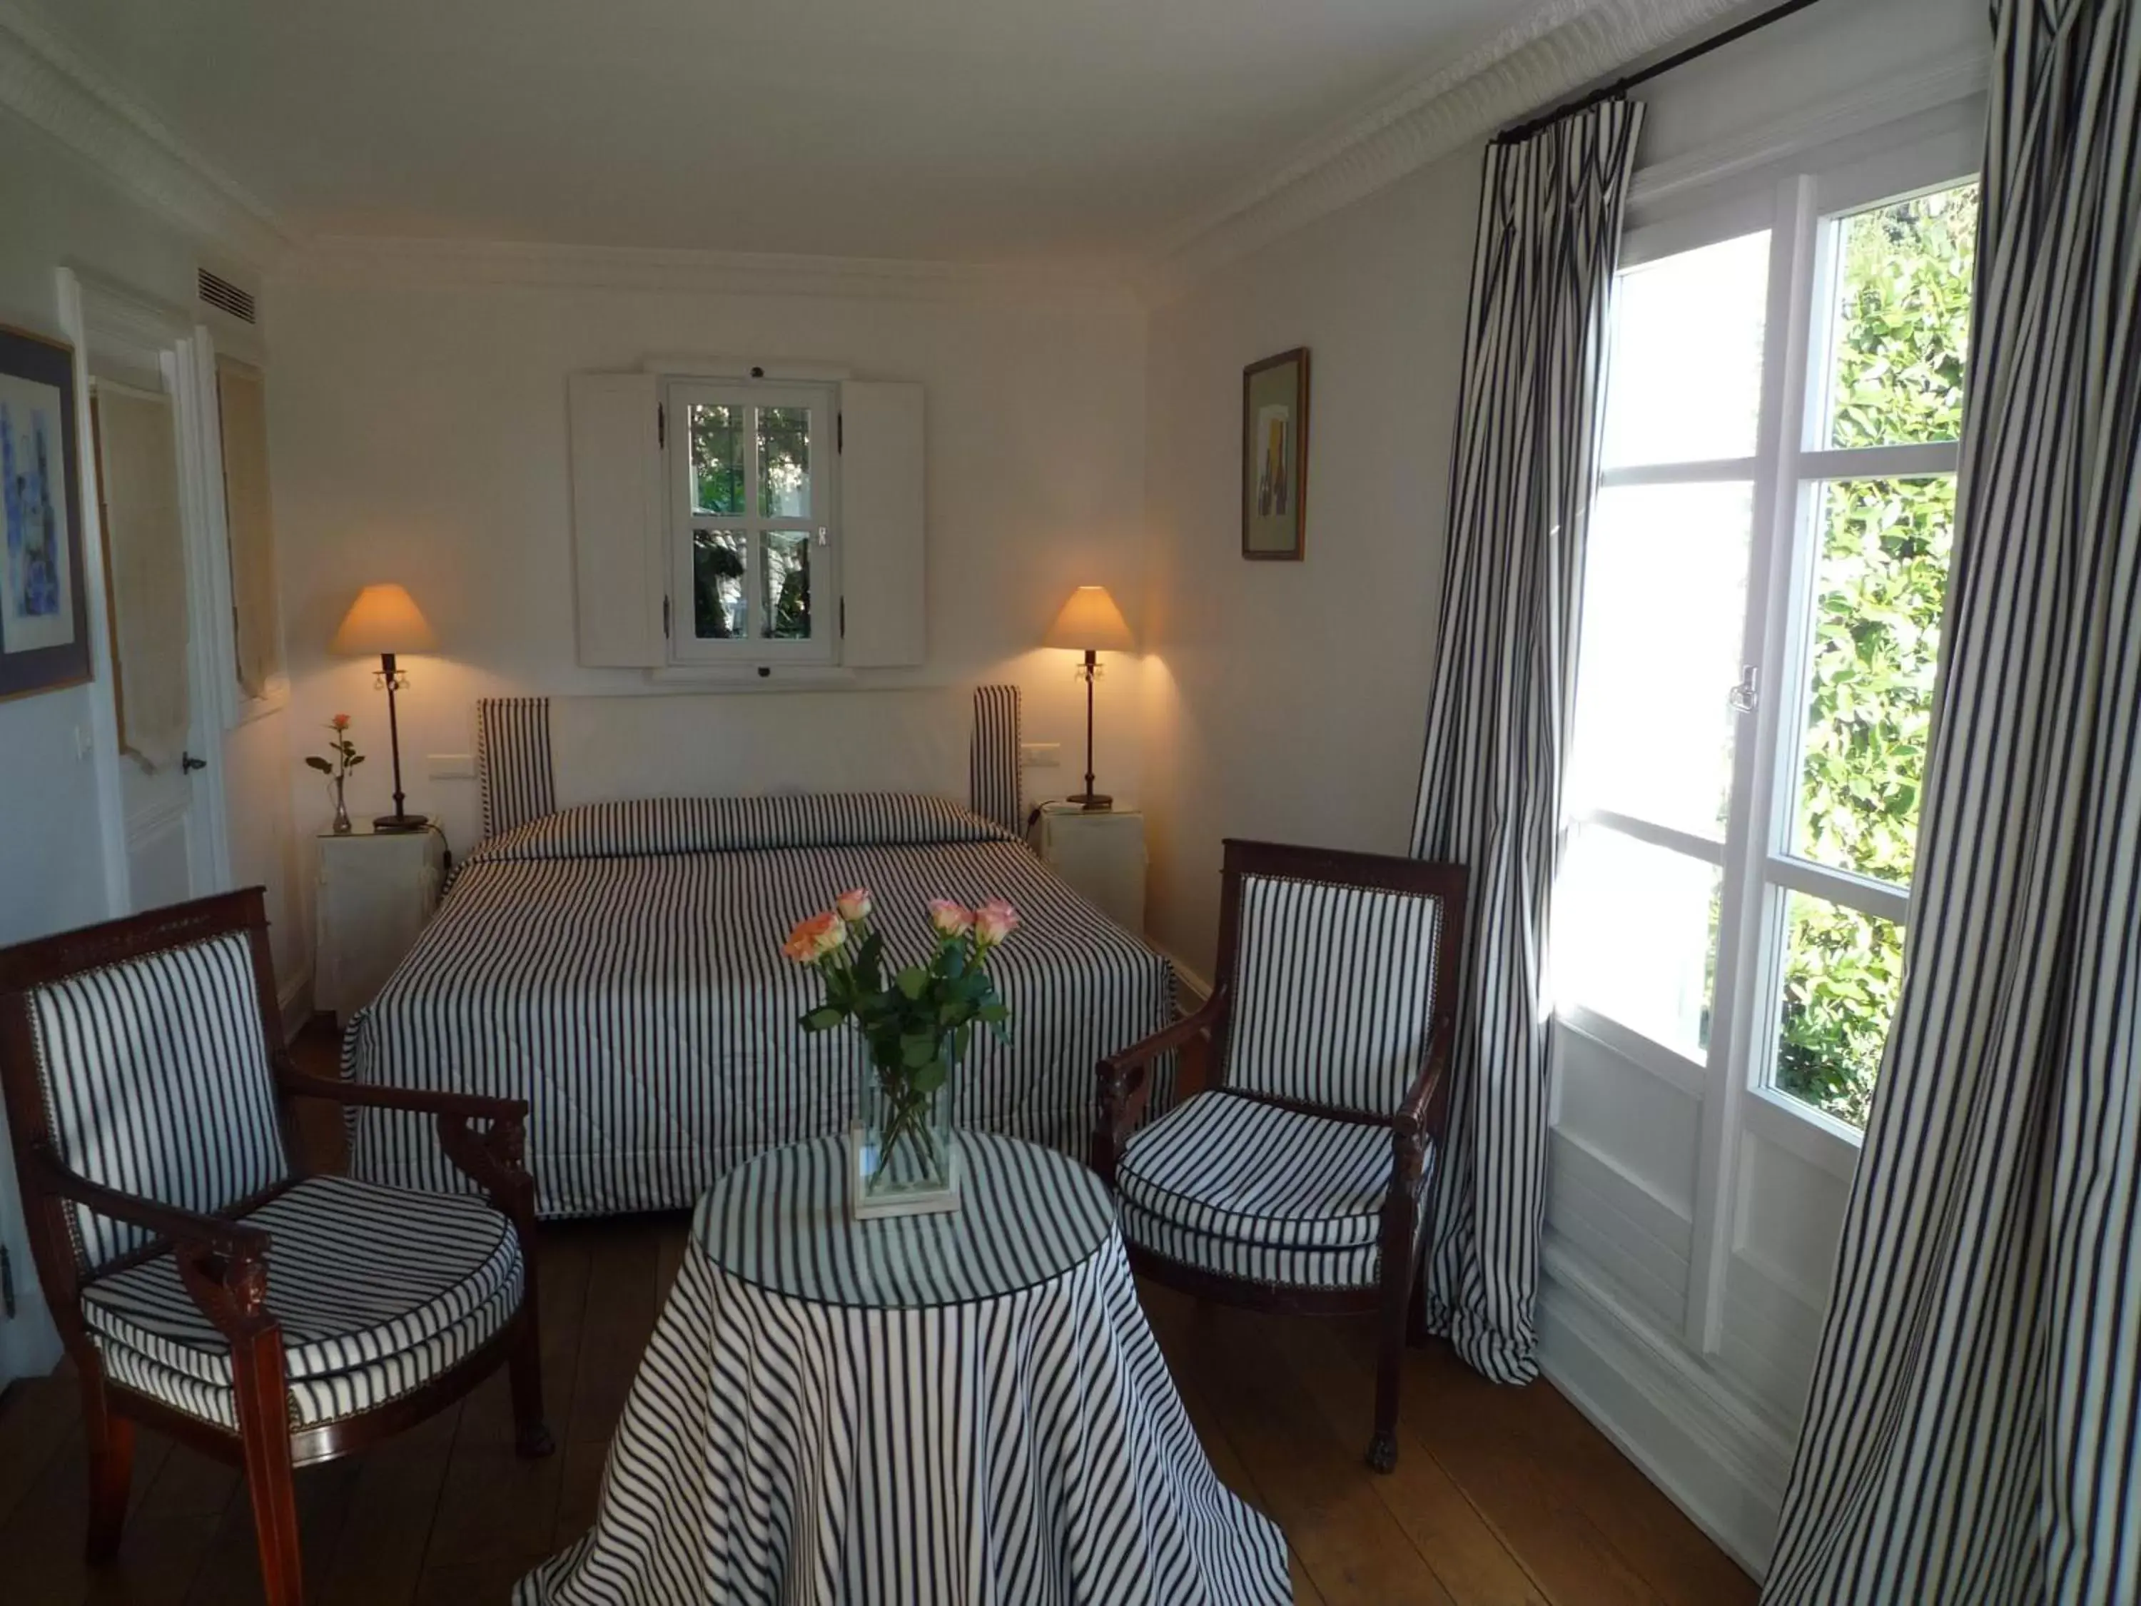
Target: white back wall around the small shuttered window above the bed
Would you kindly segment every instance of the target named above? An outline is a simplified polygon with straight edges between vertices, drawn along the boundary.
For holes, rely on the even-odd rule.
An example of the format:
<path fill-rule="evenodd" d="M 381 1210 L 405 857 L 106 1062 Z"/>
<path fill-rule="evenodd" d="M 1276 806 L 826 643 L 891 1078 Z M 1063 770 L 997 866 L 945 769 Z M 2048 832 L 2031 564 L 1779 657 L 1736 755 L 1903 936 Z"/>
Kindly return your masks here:
<path fill-rule="evenodd" d="M 477 696 L 649 692 L 638 670 L 574 664 L 565 375 L 655 353 L 846 364 L 927 392 L 929 664 L 871 683 L 1026 690 L 1028 741 L 1062 741 L 1028 797 L 1077 790 L 1083 702 L 1070 653 L 1034 649 L 1070 587 L 1107 585 L 1137 623 L 1143 315 L 1128 302 L 983 304 L 557 287 L 270 285 L 278 567 L 300 732 L 358 719 L 370 760 L 351 812 L 388 807 L 385 709 L 325 642 L 358 587 L 400 580 L 439 632 L 400 698 L 409 807 L 475 839 L 475 786 L 432 782 L 467 754 Z M 1137 664 L 1100 681 L 1098 773 L 1141 790 Z M 749 692 L 741 692 L 749 694 Z M 1079 749 L 1079 752 L 1073 752 Z M 302 827 L 325 797 L 300 777 Z"/>

